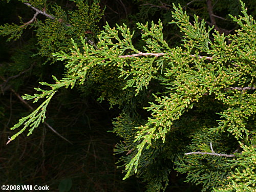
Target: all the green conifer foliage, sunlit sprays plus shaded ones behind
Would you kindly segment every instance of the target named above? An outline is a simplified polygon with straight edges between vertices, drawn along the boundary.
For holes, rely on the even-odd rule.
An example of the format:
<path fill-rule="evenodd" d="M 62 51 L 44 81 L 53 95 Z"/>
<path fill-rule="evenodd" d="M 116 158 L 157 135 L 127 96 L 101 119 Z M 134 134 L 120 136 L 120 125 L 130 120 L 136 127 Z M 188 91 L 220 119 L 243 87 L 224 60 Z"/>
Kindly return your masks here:
<path fill-rule="evenodd" d="M 125 167 L 124 179 L 137 174 L 147 183 L 147 191 L 161 191 L 175 169 L 187 174 L 186 182 L 201 185 L 202 191 L 255 190 L 256 23 L 245 4 L 241 2 L 239 17 L 230 15 L 239 29 L 229 35 L 207 27 L 197 16 L 190 18 L 173 4 L 169 25 L 179 27 L 181 45 L 167 44 L 159 20 L 137 24 L 143 44 L 138 48 L 135 32 L 125 24 L 107 23 L 97 42 L 89 40 L 83 25 L 97 31 L 90 23 L 98 19 L 92 15 L 100 15 L 95 13 L 97 2 L 91 16 L 83 15 L 82 10 L 90 9 L 87 5 L 75 2 L 78 11 L 69 12 L 70 20 L 55 6 L 58 20 L 33 24 L 38 27 L 39 54 L 51 52 L 53 60 L 65 63 L 66 73 L 62 79 L 53 76 L 53 84 L 40 82 L 49 89 L 35 88 L 36 94 L 23 96 L 43 101 L 12 127 L 20 131 L 8 142 L 15 142 L 27 128 L 30 135 L 45 120 L 47 105 L 60 88 L 81 89 L 97 81 L 99 100 L 122 109 L 113 120 L 113 132 L 122 138 L 114 152 L 120 154 L 118 165 Z M 38 2 L 30 5 L 42 8 Z M 10 38 L 20 33 L 8 24 L 0 32 Z"/>

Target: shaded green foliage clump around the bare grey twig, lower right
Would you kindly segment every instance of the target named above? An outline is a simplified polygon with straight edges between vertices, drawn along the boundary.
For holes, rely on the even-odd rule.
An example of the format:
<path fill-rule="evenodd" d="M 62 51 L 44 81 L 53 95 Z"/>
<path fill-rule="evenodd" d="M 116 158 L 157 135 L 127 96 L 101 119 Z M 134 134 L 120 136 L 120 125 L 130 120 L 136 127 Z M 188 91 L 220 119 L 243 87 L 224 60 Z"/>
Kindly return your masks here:
<path fill-rule="evenodd" d="M 187 152 L 211 153 L 210 143 L 212 143 L 212 148 L 216 153 L 232 154 L 239 146 L 234 139 L 232 139 L 233 146 L 230 146 L 230 138 L 226 134 L 210 133 L 208 127 L 203 127 L 190 137 L 191 143 L 186 147 Z M 231 166 L 228 161 L 227 157 L 197 154 L 186 155 L 175 163 L 178 172 L 189 173 L 186 182 L 202 185 L 202 191 L 208 191 L 223 185 L 223 180 L 230 175 L 227 172 L 227 168 Z"/>

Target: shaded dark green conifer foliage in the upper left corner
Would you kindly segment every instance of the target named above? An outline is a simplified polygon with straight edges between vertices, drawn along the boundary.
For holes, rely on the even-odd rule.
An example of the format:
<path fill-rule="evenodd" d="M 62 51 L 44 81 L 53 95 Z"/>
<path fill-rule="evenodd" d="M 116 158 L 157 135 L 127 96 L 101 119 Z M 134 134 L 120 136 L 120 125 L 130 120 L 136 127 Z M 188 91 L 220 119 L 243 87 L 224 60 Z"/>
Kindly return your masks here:
<path fill-rule="evenodd" d="M 22 1 L 28 3 L 27 1 Z M 102 17 L 102 11 L 98 1 L 92 5 L 83 1 L 74 1 L 76 9 L 66 12 L 60 6 L 46 1 L 32 1 L 29 5 L 46 14 L 48 17 L 42 21 L 34 19 L 31 23 L 23 25 L 5 24 L 0 26 L 0 35 L 9 36 L 8 40 L 17 40 L 28 26 L 34 27 L 38 38 L 38 54 L 53 59 L 52 53 L 60 50 L 69 51 L 72 46 L 70 38 L 78 40 L 80 36 L 88 38 L 98 33 L 98 22 Z M 39 12 L 40 13 L 40 12 Z M 54 61 L 54 60 L 53 60 Z"/>

